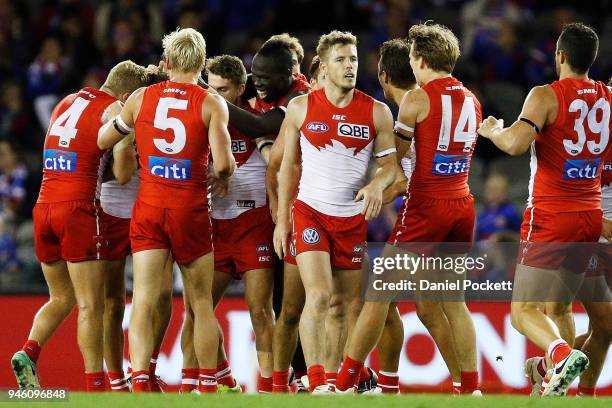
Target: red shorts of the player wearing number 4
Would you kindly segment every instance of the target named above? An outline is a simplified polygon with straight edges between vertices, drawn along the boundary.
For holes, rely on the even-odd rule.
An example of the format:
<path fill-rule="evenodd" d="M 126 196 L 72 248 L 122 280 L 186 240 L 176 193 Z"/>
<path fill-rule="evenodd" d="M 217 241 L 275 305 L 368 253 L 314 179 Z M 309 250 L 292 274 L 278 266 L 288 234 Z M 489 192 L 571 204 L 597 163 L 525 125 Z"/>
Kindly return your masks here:
<path fill-rule="evenodd" d="M 40 262 L 63 259 L 82 262 L 104 259 L 102 208 L 93 201 L 37 203 L 34 219 L 34 251 Z"/>

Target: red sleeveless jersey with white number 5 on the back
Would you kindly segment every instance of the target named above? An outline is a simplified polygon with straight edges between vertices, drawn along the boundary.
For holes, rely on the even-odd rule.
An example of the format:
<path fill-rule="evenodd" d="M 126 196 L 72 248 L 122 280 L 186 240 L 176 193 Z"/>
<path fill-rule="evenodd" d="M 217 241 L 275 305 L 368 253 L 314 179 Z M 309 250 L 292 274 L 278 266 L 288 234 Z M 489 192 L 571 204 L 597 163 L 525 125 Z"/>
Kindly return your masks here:
<path fill-rule="evenodd" d="M 138 199 L 161 208 L 206 206 L 208 91 L 165 81 L 146 88 L 134 124 L 141 168 Z"/>

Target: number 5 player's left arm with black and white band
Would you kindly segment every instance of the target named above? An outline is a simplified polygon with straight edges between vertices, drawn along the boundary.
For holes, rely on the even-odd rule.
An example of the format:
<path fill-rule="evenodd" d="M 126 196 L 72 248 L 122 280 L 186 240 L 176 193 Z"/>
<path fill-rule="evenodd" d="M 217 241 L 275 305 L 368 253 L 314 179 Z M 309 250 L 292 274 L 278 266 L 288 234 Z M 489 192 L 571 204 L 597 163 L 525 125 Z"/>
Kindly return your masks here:
<path fill-rule="evenodd" d="M 144 90 L 145 88 L 139 88 L 134 91 L 125 101 L 121 112 L 100 128 L 98 131 L 100 149 L 110 149 L 134 130 L 134 122 L 140 110 Z"/>

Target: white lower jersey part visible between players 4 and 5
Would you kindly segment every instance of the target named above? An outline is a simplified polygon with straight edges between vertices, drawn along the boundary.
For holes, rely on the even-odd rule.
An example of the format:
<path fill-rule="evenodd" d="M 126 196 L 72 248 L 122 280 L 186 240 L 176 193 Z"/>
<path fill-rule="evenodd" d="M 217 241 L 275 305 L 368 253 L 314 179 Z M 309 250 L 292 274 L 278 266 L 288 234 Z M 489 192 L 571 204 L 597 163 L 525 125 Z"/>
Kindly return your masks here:
<path fill-rule="evenodd" d="M 138 196 L 140 187 L 140 169 L 126 184 L 119 184 L 117 180 L 102 183 L 100 192 L 100 205 L 108 215 L 117 218 L 132 218 L 132 209 Z"/>

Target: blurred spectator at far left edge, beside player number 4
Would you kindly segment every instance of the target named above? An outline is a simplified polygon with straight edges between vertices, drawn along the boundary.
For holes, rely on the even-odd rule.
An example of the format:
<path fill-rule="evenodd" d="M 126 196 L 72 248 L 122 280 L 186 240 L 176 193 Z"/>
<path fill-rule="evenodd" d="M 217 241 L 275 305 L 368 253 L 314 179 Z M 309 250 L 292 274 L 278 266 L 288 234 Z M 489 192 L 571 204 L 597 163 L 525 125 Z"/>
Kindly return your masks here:
<path fill-rule="evenodd" d="M 26 198 L 28 171 L 13 146 L 0 141 L 0 214 L 12 221 Z"/>

